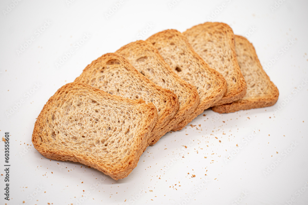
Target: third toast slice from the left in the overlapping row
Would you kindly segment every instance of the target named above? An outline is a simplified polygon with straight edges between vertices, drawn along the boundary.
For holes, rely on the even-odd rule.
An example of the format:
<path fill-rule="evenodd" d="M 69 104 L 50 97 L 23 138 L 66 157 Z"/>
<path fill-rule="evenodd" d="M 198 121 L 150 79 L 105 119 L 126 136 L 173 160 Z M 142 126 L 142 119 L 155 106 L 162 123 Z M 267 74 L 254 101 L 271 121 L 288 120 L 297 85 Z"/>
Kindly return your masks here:
<path fill-rule="evenodd" d="M 173 131 L 184 128 L 188 122 L 181 122 L 189 118 L 199 104 L 196 87 L 181 79 L 160 56 L 158 50 L 147 41 L 129 43 L 115 53 L 122 55 L 156 85 L 169 89 L 177 95 L 179 110 L 166 126 Z"/>

